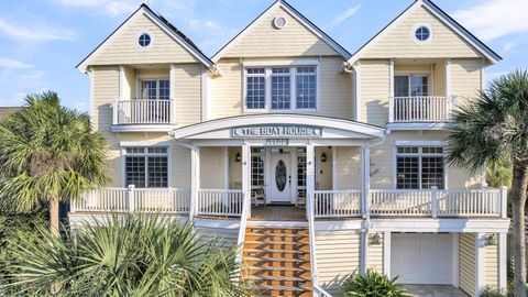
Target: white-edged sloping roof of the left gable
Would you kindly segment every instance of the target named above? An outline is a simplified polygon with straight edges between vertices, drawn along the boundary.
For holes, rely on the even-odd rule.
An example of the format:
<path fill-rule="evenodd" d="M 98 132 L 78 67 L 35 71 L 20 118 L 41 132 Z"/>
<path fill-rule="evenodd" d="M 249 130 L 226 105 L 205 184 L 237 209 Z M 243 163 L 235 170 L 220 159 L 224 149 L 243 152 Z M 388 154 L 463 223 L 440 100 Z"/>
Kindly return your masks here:
<path fill-rule="evenodd" d="M 207 67 L 211 67 L 213 65 L 212 61 L 206 56 L 200 48 L 189 38 L 187 37 L 182 31 L 179 31 L 176 26 L 174 26 L 170 22 L 168 22 L 165 18 L 161 14 L 155 13 L 145 3 L 141 4 L 140 8 L 133 12 L 124 22 L 122 22 L 105 41 L 102 41 L 96 50 L 94 50 L 87 57 L 85 57 L 76 68 L 86 72 L 87 66 L 91 58 L 94 58 L 105 46 L 107 42 L 110 40 L 135 15 L 144 13 L 151 21 L 157 24 L 165 33 L 167 33 L 176 43 L 187 50 L 193 56 L 195 56 L 198 61 L 200 61 Z"/>

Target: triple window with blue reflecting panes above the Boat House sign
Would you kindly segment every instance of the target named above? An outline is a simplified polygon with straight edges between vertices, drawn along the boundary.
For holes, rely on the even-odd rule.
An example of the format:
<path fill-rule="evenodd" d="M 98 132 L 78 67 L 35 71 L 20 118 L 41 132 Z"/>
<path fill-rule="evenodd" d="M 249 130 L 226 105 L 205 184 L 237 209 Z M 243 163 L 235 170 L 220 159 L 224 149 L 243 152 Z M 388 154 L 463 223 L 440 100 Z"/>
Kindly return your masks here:
<path fill-rule="evenodd" d="M 246 110 L 315 110 L 317 67 L 245 68 Z"/>

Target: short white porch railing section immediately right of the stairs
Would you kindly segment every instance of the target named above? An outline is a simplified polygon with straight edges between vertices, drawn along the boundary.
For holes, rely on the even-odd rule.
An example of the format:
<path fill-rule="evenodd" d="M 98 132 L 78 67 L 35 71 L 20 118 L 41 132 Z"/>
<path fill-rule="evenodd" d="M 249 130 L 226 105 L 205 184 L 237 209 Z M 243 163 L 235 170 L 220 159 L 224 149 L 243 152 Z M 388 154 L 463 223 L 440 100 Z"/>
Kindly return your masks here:
<path fill-rule="evenodd" d="M 361 217 L 361 190 L 316 190 L 316 218 Z"/>

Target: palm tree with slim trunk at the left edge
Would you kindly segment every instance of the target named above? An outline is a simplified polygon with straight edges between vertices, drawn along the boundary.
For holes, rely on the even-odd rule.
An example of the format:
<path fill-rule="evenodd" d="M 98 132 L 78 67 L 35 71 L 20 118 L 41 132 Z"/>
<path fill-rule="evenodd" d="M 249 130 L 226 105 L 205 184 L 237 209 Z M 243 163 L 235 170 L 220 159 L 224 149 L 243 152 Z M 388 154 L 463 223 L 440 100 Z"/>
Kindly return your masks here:
<path fill-rule="evenodd" d="M 59 201 L 108 182 L 106 144 L 88 114 L 62 107 L 57 94 L 29 95 L 25 102 L 0 123 L 0 209 L 30 211 L 48 202 L 58 234 Z"/>

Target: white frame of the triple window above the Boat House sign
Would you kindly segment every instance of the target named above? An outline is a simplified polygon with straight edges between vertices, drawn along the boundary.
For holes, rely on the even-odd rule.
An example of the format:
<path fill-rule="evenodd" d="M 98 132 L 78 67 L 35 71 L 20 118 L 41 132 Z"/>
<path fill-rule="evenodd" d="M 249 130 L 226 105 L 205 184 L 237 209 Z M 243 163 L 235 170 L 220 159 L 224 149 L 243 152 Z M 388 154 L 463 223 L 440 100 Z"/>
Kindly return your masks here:
<path fill-rule="evenodd" d="M 317 112 L 320 105 L 320 91 L 321 91 L 321 75 L 319 61 L 253 61 L 244 62 L 242 67 L 243 77 L 243 105 L 242 111 L 248 113 L 255 112 L 273 112 L 273 113 L 290 113 L 290 112 Z M 316 108 L 301 108 L 297 109 L 297 89 L 296 89 L 296 75 L 297 67 L 315 67 L 316 68 Z M 264 68 L 264 84 L 265 84 L 265 103 L 264 109 L 251 109 L 248 108 L 248 68 Z M 272 109 L 272 68 L 290 68 L 290 105 L 289 109 Z"/>

